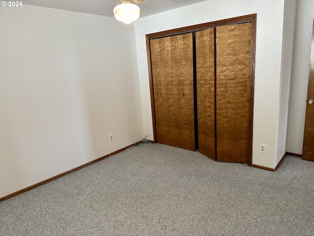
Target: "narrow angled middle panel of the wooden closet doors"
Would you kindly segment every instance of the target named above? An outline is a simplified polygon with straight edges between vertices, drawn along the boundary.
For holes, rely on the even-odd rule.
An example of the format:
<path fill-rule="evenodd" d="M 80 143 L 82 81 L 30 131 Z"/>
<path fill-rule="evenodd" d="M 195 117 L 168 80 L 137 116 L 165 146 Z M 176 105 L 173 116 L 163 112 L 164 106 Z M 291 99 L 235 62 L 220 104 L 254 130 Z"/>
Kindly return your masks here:
<path fill-rule="evenodd" d="M 198 149 L 216 160 L 214 40 L 214 28 L 195 33 Z"/>

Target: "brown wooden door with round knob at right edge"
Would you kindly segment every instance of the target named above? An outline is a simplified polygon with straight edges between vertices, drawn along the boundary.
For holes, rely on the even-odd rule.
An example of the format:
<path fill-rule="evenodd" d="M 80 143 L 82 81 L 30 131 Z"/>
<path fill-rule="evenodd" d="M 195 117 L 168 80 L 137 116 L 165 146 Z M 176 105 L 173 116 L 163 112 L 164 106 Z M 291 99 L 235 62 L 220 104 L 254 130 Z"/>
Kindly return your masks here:
<path fill-rule="evenodd" d="M 302 149 L 302 159 L 314 161 L 314 104 L 309 104 L 310 99 L 314 100 L 314 27 L 312 32 L 309 84 Z"/>

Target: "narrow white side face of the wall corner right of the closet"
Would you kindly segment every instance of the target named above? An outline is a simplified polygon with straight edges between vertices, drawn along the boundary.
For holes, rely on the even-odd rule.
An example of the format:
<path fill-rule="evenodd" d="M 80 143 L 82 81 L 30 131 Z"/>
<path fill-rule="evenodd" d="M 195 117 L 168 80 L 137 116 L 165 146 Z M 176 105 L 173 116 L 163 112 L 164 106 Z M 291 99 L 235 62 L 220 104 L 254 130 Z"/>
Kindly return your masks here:
<path fill-rule="evenodd" d="M 295 14 L 296 14 L 296 0 L 285 0 L 275 166 L 280 162 L 280 160 L 286 153 L 289 92 L 291 79 L 290 75 L 292 66 L 292 48 Z"/>

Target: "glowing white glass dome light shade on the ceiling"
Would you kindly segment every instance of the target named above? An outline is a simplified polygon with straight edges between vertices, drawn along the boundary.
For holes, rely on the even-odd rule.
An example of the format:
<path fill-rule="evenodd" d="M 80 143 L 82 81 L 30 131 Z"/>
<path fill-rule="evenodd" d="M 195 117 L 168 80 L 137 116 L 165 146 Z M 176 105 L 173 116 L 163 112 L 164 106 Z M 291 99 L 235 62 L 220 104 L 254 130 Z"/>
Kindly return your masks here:
<path fill-rule="evenodd" d="M 130 24 L 139 18 L 140 9 L 133 4 L 131 0 L 121 0 L 118 5 L 113 8 L 114 17 L 118 21 Z"/>

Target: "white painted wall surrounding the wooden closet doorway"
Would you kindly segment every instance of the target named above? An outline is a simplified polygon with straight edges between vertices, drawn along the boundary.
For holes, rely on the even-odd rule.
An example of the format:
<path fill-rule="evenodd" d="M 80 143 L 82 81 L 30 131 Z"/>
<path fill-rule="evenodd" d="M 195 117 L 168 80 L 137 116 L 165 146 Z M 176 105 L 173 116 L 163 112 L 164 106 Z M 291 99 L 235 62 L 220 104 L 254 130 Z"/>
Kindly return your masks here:
<path fill-rule="evenodd" d="M 144 133 L 148 135 L 148 139 L 153 140 L 154 136 L 145 34 L 253 13 L 257 13 L 253 164 L 275 167 L 278 159 L 276 141 L 284 0 L 207 0 L 140 18 L 135 22 Z M 284 131 L 280 131 L 282 132 Z M 267 145 L 266 153 L 259 152 L 260 144 Z"/>

